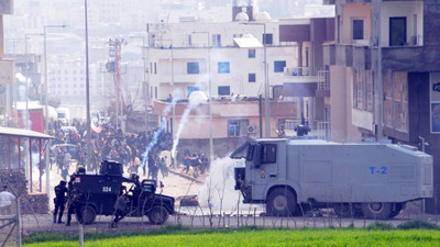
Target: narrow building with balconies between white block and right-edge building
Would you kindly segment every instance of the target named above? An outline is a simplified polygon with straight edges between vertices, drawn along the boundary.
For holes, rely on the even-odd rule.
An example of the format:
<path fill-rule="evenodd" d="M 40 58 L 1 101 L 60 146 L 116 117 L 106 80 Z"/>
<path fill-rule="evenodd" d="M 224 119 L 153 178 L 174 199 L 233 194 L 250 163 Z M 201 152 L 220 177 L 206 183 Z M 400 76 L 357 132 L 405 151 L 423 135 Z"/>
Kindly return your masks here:
<path fill-rule="evenodd" d="M 298 45 L 298 64 L 285 68 L 284 83 L 275 91 L 274 99 L 297 99 L 299 119 L 285 120 L 278 125 L 284 125 L 285 132 L 292 133 L 298 124 L 306 124 L 311 128 L 309 135 L 329 139 L 330 80 L 329 68 L 323 63 L 323 47 L 334 41 L 334 19 L 312 18 L 283 24 L 279 41 Z"/>

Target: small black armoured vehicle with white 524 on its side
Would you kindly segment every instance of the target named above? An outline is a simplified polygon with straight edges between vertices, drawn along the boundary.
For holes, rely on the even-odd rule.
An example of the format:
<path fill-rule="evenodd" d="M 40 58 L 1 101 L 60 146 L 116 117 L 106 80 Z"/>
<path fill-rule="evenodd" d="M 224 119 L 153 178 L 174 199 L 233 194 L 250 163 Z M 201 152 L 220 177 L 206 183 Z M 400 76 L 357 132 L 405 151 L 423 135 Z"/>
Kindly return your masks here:
<path fill-rule="evenodd" d="M 84 168 L 70 179 L 81 194 L 81 211 L 85 224 L 91 224 L 96 215 L 113 215 L 118 195 L 127 193 L 129 198 L 128 217 L 146 215 L 152 224 L 164 224 L 169 214 L 174 214 L 175 199 L 155 193 L 156 181 L 144 179 L 141 182 L 136 175 L 130 178 L 122 176 L 122 165 L 106 160 L 99 173 L 87 173 Z"/>

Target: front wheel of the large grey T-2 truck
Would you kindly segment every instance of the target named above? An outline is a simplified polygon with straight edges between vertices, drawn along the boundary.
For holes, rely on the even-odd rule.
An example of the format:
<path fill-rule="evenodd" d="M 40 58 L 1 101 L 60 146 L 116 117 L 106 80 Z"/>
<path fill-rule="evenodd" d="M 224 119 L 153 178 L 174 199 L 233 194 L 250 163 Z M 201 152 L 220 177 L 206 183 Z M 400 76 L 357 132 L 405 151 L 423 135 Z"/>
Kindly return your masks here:
<path fill-rule="evenodd" d="M 276 188 L 267 197 L 266 213 L 272 216 L 292 216 L 297 209 L 296 197 L 287 188 Z"/>

